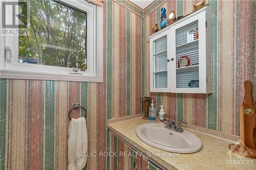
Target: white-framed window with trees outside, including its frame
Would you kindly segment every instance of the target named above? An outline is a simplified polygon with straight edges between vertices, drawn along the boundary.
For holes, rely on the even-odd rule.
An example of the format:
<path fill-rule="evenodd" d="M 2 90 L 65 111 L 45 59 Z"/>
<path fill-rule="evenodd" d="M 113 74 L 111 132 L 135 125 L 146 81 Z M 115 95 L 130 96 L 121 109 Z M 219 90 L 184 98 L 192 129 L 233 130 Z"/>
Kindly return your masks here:
<path fill-rule="evenodd" d="M 1 35 L 2 78 L 102 82 L 101 7 L 42 0 L 19 1 L 15 9 L 18 35 Z M 5 17 L 6 22 L 13 16 Z"/>

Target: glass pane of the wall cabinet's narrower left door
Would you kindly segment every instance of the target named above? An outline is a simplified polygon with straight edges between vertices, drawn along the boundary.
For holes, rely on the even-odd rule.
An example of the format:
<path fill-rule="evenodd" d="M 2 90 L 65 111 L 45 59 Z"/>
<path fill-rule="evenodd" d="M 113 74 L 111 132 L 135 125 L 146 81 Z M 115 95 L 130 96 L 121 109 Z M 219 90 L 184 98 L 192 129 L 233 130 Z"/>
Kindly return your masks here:
<path fill-rule="evenodd" d="M 152 41 L 152 79 L 153 89 L 164 91 L 168 87 L 168 55 L 167 55 L 167 34 L 162 34 Z"/>

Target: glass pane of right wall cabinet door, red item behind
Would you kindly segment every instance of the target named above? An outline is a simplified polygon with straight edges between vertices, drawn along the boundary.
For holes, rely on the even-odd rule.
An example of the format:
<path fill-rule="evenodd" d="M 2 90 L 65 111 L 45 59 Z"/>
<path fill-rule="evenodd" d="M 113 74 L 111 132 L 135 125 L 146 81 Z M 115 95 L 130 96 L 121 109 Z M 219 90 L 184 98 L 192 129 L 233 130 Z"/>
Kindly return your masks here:
<path fill-rule="evenodd" d="M 176 88 L 199 88 L 198 20 L 176 30 Z"/>

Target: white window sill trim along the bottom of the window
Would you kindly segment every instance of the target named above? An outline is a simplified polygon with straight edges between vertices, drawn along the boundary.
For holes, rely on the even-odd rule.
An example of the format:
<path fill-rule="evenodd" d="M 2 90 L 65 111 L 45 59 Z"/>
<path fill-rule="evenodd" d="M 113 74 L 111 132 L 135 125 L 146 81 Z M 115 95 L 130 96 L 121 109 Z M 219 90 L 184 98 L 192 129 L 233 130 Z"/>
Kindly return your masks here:
<path fill-rule="evenodd" d="M 102 72 L 102 71 L 100 71 Z M 30 80 L 54 80 L 54 81 L 76 81 L 76 82 L 103 82 L 102 75 L 81 76 L 73 74 L 50 74 L 41 72 L 28 72 L 0 69 L 1 79 L 30 79 Z"/>

